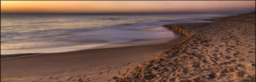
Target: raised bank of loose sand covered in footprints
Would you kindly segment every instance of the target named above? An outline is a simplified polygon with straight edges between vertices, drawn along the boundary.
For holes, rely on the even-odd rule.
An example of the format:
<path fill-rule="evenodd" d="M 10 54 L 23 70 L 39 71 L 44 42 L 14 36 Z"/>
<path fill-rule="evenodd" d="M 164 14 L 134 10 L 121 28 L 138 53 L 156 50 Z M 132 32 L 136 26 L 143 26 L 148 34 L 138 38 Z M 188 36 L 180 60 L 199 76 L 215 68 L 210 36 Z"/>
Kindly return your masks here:
<path fill-rule="evenodd" d="M 164 25 L 186 40 L 116 81 L 255 82 L 255 13 Z"/>

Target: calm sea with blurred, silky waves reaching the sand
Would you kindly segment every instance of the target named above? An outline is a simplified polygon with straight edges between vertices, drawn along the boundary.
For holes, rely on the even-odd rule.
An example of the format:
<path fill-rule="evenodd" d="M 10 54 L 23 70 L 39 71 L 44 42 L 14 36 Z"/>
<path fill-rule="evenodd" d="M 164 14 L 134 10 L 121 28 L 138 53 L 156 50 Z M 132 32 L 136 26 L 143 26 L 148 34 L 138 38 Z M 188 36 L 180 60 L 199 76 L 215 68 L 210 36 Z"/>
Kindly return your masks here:
<path fill-rule="evenodd" d="M 162 25 L 234 14 L 1 14 L 1 54 L 58 53 L 180 37 Z M 111 46 L 113 47 L 113 46 Z"/>

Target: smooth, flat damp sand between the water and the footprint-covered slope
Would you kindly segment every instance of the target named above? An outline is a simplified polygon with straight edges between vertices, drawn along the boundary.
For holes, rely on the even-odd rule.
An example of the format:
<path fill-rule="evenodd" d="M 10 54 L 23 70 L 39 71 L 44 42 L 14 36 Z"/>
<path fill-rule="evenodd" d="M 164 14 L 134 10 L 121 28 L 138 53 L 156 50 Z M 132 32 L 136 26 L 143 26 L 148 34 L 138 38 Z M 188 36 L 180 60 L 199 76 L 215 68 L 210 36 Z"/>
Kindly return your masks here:
<path fill-rule="evenodd" d="M 186 37 L 173 41 L 132 47 L 102 48 L 51 53 L 1 56 L 1 81 L 114 81 L 113 76 L 128 72 L 145 60 L 154 59 Z M 26 57 L 20 57 L 26 56 Z"/>

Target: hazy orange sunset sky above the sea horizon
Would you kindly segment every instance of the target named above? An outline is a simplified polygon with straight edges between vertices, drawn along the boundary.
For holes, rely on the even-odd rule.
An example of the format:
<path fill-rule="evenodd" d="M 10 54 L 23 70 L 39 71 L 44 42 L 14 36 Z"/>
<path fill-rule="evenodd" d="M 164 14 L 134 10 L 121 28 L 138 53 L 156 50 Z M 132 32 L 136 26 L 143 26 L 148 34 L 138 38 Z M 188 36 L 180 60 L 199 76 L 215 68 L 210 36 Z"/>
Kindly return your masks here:
<path fill-rule="evenodd" d="M 1 13 L 249 13 L 255 1 L 1 1 Z"/>

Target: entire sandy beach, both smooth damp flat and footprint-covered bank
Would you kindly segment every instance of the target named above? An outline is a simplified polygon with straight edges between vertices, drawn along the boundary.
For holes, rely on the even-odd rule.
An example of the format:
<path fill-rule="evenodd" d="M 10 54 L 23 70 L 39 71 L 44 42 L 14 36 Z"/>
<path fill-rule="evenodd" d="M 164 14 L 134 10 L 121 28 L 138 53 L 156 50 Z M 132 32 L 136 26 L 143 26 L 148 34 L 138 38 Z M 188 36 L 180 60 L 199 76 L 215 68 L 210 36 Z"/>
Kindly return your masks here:
<path fill-rule="evenodd" d="M 162 44 L 1 59 L 1 81 L 255 82 L 255 13 L 164 25 Z"/>

